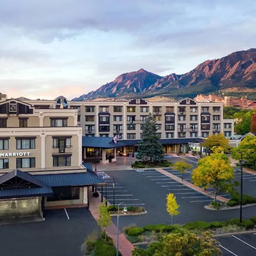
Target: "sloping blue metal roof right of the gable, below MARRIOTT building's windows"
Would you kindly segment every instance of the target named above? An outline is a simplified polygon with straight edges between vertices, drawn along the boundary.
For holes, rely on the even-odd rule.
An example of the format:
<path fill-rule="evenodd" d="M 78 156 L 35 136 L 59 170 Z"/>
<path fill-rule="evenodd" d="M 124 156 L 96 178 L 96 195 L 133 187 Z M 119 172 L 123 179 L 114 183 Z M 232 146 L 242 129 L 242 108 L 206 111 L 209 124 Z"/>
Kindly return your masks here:
<path fill-rule="evenodd" d="M 35 175 L 38 179 L 49 184 L 49 186 L 88 186 L 105 183 L 99 176 L 94 176 L 89 172 L 59 173 L 47 175 Z"/>

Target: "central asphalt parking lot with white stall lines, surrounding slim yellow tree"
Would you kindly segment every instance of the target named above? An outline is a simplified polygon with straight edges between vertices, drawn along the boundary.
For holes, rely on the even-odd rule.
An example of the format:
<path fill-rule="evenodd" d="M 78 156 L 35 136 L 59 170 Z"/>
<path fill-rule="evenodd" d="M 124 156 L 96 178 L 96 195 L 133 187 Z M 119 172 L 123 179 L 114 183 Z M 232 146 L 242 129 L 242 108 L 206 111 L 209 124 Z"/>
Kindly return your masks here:
<path fill-rule="evenodd" d="M 180 214 L 173 218 L 174 223 L 183 224 L 197 220 L 224 221 L 229 218 L 239 218 L 239 209 L 223 211 L 204 209 L 204 205 L 212 201 L 212 198 L 201 195 L 154 169 L 106 171 L 105 174 L 109 176 L 106 179 L 108 181 L 107 198 L 111 200 L 113 198 L 109 195 L 113 195 L 114 176 L 117 183 L 115 195 L 119 193 L 118 197 L 115 196 L 119 199 L 115 204 L 124 202 L 128 205 L 142 206 L 148 212 L 146 215 L 123 217 L 119 222 L 120 230 L 130 224 L 140 227 L 147 224 L 170 224 L 171 217 L 166 212 L 166 195 L 170 192 L 176 195 L 177 203 L 180 205 Z M 103 194 L 105 196 L 105 193 Z M 256 215 L 256 206 L 243 208 L 243 218 L 250 218 L 253 215 Z M 116 222 L 116 217 L 113 217 L 113 222 Z"/>

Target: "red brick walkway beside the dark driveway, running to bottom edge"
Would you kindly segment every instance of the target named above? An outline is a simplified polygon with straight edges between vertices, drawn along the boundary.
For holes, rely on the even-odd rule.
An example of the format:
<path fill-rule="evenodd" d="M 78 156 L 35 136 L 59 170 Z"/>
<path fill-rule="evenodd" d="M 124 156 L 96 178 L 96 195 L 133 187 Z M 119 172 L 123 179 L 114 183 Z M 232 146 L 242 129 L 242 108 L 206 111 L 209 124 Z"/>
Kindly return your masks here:
<path fill-rule="evenodd" d="M 89 194 L 90 206 L 89 210 L 93 215 L 93 218 L 96 220 L 99 218 L 98 206 L 101 204 L 100 197 L 94 198 L 91 193 Z M 114 245 L 116 246 L 117 236 L 116 236 L 116 226 L 111 221 L 111 225 L 107 227 L 108 236 L 113 239 Z M 131 256 L 131 251 L 134 249 L 134 246 L 126 239 L 125 234 L 119 233 L 119 251 L 122 253 L 122 256 Z"/>

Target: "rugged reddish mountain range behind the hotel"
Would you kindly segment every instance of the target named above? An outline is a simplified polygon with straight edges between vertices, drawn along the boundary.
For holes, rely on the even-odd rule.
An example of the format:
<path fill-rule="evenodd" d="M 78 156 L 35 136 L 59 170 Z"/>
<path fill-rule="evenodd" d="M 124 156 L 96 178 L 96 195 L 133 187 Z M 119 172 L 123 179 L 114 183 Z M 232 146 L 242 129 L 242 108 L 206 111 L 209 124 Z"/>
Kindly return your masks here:
<path fill-rule="evenodd" d="M 256 92 L 256 49 L 233 52 L 223 58 L 207 60 L 188 73 L 158 76 L 144 69 L 124 73 L 99 89 L 73 100 L 104 97 L 193 97 L 218 91 Z"/>

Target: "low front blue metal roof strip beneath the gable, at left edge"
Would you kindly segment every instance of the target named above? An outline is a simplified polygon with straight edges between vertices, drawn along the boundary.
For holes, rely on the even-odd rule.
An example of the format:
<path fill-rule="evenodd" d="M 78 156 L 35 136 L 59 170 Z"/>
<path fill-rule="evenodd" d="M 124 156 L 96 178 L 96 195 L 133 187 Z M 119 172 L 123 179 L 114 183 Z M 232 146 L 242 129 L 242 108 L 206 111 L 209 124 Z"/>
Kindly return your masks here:
<path fill-rule="evenodd" d="M 50 196 L 52 189 L 49 191 L 45 188 L 20 188 L 20 189 L 3 189 L 0 190 L 0 198 L 24 198 L 34 196 Z"/>

